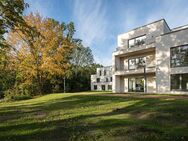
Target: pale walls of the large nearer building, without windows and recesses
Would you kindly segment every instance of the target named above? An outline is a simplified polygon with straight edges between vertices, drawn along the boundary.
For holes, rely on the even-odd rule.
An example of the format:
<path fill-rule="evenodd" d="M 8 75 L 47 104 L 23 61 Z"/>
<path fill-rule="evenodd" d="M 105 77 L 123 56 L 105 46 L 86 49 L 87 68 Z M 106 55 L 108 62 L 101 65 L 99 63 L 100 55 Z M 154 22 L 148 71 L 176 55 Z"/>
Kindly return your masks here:
<path fill-rule="evenodd" d="M 138 47 L 128 48 L 128 40 L 140 35 L 146 34 L 146 44 Z M 117 50 L 112 56 L 113 68 L 113 92 L 127 92 L 128 79 L 118 71 L 128 69 L 128 58 L 134 52 L 155 50 L 154 56 L 147 56 L 147 65 L 155 66 L 155 76 L 147 78 L 148 93 L 180 93 L 170 90 L 170 75 L 179 73 L 188 73 L 188 67 L 170 68 L 170 48 L 188 44 L 188 28 L 183 30 L 170 31 L 164 20 L 136 28 L 125 34 L 118 36 L 118 47 L 123 50 Z M 151 50 L 150 50 L 151 51 Z M 146 52 L 143 53 L 145 55 Z M 138 53 L 137 53 L 138 55 Z M 126 86 L 127 85 L 127 86 Z"/>

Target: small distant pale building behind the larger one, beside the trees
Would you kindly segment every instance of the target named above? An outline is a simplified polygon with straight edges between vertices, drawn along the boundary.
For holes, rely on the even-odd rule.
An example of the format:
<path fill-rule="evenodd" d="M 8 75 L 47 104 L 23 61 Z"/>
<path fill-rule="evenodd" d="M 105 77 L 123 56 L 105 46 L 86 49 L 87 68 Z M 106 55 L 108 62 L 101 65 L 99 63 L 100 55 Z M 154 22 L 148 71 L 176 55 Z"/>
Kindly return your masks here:
<path fill-rule="evenodd" d="M 91 90 L 111 91 L 112 90 L 112 67 L 97 68 L 95 75 L 91 75 Z"/>

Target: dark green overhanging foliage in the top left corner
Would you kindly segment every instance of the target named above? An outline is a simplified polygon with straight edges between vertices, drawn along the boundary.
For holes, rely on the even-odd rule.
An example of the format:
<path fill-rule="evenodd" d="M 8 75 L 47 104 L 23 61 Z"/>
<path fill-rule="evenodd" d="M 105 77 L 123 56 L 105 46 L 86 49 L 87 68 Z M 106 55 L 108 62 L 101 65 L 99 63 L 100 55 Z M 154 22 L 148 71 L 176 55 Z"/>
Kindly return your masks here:
<path fill-rule="evenodd" d="M 15 27 L 27 26 L 22 15 L 24 8 L 28 7 L 24 0 L 0 1 L 0 46 L 6 46 L 4 34 Z"/>

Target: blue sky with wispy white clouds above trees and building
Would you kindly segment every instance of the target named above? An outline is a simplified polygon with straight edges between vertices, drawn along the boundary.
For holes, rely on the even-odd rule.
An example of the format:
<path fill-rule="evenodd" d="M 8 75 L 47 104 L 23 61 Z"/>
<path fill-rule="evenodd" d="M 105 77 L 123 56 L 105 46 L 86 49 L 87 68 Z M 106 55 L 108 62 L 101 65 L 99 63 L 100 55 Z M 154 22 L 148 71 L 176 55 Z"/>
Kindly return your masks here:
<path fill-rule="evenodd" d="M 60 22 L 73 21 L 76 38 L 97 63 L 111 65 L 117 35 L 164 18 L 170 28 L 188 24 L 188 0 L 26 0 L 29 12 Z"/>

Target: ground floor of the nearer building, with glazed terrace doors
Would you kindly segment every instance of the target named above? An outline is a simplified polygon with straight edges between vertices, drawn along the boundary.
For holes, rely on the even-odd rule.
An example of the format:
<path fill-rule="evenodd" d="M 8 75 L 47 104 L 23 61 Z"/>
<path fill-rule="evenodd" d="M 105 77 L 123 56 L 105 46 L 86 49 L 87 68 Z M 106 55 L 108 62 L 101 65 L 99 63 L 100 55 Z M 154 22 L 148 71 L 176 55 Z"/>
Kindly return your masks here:
<path fill-rule="evenodd" d="M 113 92 L 188 94 L 188 73 L 169 74 L 168 83 L 156 73 L 113 76 Z M 164 83 L 164 85 L 161 85 Z M 165 89 L 165 90 L 164 90 Z M 161 92 L 161 90 L 163 90 Z"/>

